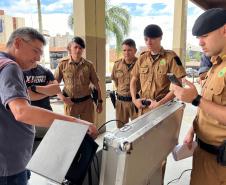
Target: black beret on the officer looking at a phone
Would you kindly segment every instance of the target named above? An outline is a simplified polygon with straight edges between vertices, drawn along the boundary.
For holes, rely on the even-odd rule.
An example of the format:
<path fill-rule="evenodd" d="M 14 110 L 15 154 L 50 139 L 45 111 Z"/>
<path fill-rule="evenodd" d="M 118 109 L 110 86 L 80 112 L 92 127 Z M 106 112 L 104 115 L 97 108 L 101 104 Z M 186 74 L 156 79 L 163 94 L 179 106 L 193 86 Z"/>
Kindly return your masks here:
<path fill-rule="evenodd" d="M 212 32 L 226 23 L 226 10 L 223 8 L 212 8 L 201 14 L 192 28 L 194 36 L 202 36 Z"/>

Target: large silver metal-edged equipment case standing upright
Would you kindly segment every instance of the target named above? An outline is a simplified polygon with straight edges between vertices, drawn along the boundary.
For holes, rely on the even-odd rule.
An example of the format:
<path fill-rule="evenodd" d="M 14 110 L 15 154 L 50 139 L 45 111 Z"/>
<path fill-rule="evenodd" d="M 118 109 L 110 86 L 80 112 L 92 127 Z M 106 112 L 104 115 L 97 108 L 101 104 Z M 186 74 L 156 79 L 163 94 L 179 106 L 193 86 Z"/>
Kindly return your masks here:
<path fill-rule="evenodd" d="M 104 137 L 100 185 L 161 185 L 185 105 L 172 101 Z"/>

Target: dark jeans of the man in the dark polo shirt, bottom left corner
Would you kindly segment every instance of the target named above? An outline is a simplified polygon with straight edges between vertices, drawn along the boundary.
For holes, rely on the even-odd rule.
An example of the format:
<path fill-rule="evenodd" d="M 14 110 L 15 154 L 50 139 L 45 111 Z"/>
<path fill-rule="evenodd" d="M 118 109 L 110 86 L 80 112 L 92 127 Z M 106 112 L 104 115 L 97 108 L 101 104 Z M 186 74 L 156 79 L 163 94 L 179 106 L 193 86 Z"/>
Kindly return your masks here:
<path fill-rule="evenodd" d="M 0 177 L 0 185 L 27 185 L 30 171 L 25 170 L 12 176 Z"/>

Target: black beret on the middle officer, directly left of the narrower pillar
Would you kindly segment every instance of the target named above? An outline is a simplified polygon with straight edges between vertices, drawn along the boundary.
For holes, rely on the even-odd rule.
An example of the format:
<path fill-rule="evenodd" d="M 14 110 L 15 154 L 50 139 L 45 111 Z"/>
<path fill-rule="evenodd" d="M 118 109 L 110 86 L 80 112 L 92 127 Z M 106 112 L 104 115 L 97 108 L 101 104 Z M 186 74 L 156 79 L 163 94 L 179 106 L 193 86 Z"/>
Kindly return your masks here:
<path fill-rule="evenodd" d="M 144 36 L 150 38 L 157 38 L 162 36 L 162 29 L 156 24 L 150 24 L 144 29 Z"/>

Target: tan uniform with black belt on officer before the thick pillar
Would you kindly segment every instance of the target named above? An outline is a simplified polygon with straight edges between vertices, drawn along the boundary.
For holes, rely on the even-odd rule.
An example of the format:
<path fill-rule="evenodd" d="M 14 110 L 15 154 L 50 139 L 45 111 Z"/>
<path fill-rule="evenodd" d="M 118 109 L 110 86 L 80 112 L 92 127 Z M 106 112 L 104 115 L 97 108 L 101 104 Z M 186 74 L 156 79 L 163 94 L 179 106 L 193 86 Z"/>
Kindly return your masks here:
<path fill-rule="evenodd" d="M 84 58 L 77 64 L 71 57 L 63 58 L 56 69 L 55 79 L 64 81 L 64 95 L 73 105 L 64 105 L 66 115 L 94 122 L 94 105 L 91 99 L 90 83 L 98 84 L 98 77 L 92 63 Z"/>

